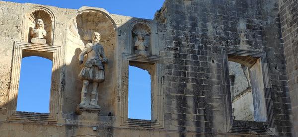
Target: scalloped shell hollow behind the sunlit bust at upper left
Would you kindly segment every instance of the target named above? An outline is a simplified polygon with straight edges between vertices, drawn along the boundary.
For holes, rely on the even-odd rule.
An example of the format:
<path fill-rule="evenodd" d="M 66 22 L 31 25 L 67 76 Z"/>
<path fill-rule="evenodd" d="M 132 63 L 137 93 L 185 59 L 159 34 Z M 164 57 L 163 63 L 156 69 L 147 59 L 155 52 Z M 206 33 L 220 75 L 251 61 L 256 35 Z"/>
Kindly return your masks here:
<path fill-rule="evenodd" d="M 47 40 L 47 44 L 51 44 L 52 40 L 52 24 L 53 19 L 51 15 L 44 9 L 35 9 L 31 12 L 29 15 L 29 21 L 28 21 L 28 41 L 31 41 L 31 30 L 35 28 L 35 21 L 37 19 L 42 19 L 44 22 L 44 29 L 47 31 L 47 36 L 45 39 Z"/>

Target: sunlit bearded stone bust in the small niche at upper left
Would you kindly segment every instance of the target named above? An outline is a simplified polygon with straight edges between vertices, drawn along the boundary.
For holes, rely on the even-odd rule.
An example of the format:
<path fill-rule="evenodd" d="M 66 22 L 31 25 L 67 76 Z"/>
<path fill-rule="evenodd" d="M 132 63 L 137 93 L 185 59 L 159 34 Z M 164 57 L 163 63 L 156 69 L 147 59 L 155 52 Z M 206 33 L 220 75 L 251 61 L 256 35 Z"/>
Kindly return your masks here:
<path fill-rule="evenodd" d="M 46 44 L 47 40 L 44 39 L 47 36 L 47 31 L 44 29 L 44 23 L 42 19 L 37 19 L 35 21 L 35 27 L 31 31 L 31 42 L 32 43 L 39 43 L 39 44 Z"/>

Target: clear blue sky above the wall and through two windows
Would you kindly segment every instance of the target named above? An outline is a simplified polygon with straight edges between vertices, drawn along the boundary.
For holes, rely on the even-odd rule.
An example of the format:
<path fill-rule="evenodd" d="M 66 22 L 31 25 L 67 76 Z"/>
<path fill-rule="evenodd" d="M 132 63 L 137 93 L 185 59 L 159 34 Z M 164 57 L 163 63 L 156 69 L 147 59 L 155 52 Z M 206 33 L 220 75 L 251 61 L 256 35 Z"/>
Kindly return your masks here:
<path fill-rule="evenodd" d="M 153 19 L 164 0 L 4 0 L 78 9 L 93 6 L 113 14 Z M 22 59 L 17 111 L 48 113 L 52 62 L 40 57 Z M 39 68 L 38 68 L 39 67 Z M 38 77 L 38 78 L 36 78 Z M 33 86 L 36 85 L 36 86 Z M 32 99 L 34 98 L 34 99 Z M 38 100 L 36 100 L 38 98 Z M 33 107 L 34 106 L 34 107 Z M 148 71 L 129 68 L 129 118 L 150 119 Z"/>

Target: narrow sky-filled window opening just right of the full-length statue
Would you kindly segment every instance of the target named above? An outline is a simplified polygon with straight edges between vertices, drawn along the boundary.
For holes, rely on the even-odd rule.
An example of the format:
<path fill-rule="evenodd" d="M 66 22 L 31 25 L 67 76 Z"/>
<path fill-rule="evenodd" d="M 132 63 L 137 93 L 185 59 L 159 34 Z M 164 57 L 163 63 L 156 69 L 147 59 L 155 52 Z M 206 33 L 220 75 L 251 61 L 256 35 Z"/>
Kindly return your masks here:
<path fill-rule="evenodd" d="M 147 70 L 129 66 L 128 118 L 151 120 L 151 76 Z"/>

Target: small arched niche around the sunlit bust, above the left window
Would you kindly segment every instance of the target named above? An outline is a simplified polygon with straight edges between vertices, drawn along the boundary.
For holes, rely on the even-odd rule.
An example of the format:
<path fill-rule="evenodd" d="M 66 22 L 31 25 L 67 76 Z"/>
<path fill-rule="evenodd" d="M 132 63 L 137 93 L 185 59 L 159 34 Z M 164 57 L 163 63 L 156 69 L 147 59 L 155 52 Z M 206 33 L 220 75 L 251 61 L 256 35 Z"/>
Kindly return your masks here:
<path fill-rule="evenodd" d="M 54 35 L 54 22 L 55 18 L 53 13 L 51 13 L 47 8 L 37 7 L 28 13 L 28 23 L 27 23 L 27 42 L 31 42 L 31 30 L 35 28 L 35 21 L 37 19 L 42 19 L 44 22 L 44 29 L 47 32 L 45 36 L 46 44 L 53 44 L 53 35 Z"/>

